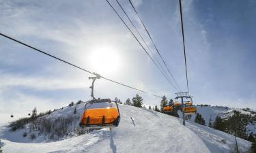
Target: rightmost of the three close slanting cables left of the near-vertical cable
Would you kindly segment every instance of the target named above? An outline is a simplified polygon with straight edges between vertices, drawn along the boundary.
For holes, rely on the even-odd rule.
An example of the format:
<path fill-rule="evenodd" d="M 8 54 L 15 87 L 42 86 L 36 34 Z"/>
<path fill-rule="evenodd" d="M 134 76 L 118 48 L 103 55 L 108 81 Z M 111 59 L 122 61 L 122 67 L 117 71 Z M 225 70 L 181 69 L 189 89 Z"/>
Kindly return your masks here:
<path fill-rule="evenodd" d="M 154 48 L 156 49 L 156 52 L 158 53 L 158 55 L 159 55 L 160 58 L 162 59 L 162 62 L 165 64 L 165 67 L 167 68 L 167 71 L 168 71 L 169 74 L 171 75 L 171 78 L 174 80 L 175 85 L 181 90 L 180 86 L 177 84 L 176 80 L 174 79 L 173 75 L 171 74 L 171 71 L 170 71 L 169 68 L 167 67 L 167 64 L 165 63 L 164 58 L 162 58 L 162 55 L 160 54 L 158 48 L 156 47 L 156 44 L 154 43 L 154 41 L 153 41 L 153 39 L 152 39 L 152 37 L 151 37 L 149 31 L 148 31 L 147 28 L 145 27 L 144 22 L 142 21 L 142 19 L 141 19 L 141 17 L 139 16 L 137 10 L 135 9 L 134 5 L 132 4 L 132 1 L 129 0 L 129 2 L 130 2 L 130 5 L 132 5 L 132 8 L 133 8 L 134 12 L 137 14 L 139 20 L 141 21 L 141 24 L 143 25 L 145 31 L 147 32 L 147 35 L 150 37 L 150 39 L 151 39 L 151 41 L 152 41 L 152 44 L 154 45 Z"/>

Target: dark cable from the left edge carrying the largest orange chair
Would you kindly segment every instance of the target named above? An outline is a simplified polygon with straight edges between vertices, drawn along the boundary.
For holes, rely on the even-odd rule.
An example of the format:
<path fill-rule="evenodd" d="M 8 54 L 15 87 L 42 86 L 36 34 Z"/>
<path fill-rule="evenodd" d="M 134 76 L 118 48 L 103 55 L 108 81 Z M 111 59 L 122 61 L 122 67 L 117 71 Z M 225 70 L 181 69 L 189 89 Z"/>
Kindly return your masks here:
<path fill-rule="evenodd" d="M 52 58 L 55 58 L 55 59 L 57 59 L 58 61 L 61 61 L 61 62 L 63 62 L 63 63 L 66 63 L 66 64 L 68 64 L 68 65 L 71 65 L 72 67 L 76 67 L 77 69 L 81 69 L 82 71 L 85 71 L 85 72 L 90 73 L 90 74 L 93 74 L 93 75 L 98 75 L 98 74 L 96 74 L 96 73 L 94 73 L 94 72 L 88 71 L 87 69 L 84 69 L 84 68 L 82 68 L 82 67 L 76 66 L 76 65 L 74 65 L 74 64 L 72 64 L 72 63 L 70 63 L 70 62 L 68 62 L 68 61 L 64 61 L 64 60 L 61 59 L 61 58 L 58 58 L 58 57 L 53 56 L 53 55 L 51 55 L 51 54 L 48 54 L 47 52 L 44 52 L 44 51 L 42 51 L 42 50 L 40 50 L 40 49 L 38 49 L 38 48 L 35 48 L 35 47 L 30 46 L 30 45 L 28 45 L 28 44 L 25 44 L 25 43 L 23 43 L 23 42 L 21 42 L 21 41 L 18 41 L 17 39 L 14 39 L 14 38 L 12 38 L 12 37 L 9 37 L 8 35 L 4 35 L 3 33 L 0 33 L 0 35 L 3 36 L 3 37 L 5 37 L 5 38 L 11 39 L 12 41 L 16 41 L 18 44 L 22 44 L 23 46 L 27 46 L 28 48 L 31 48 L 31 49 L 33 49 L 33 50 L 35 50 L 35 51 L 37 51 L 37 52 L 40 52 L 40 53 L 42 53 L 42 54 L 45 54 L 45 55 L 50 56 L 50 57 L 52 57 Z M 111 79 L 109 79 L 109 78 L 105 78 L 105 77 L 103 77 L 102 75 L 100 75 L 100 78 L 102 78 L 102 79 L 104 79 L 104 80 L 108 80 L 108 81 L 113 82 L 113 83 L 115 83 L 115 84 L 119 84 L 119 85 L 121 85 L 121 86 L 126 86 L 127 88 L 131 88 L 131 89 L 133 89 L 133 90 L 137 90 L 137 91 L 146 93 L 146 94 L 148 94 L 148 95 L 153 95 L 154 97 L 162 98 L 161 96 L 154 95 L 154 94 L 152 94 L 152 93 L 150 93 L 150 92 L 147 92 L 147 91 L 144 91 L 144 90 L 141 90 L 141 89 L 138 89 L 138 88 L 134 88 L 134 87 L 132 87 L 132 86 L 128 86 L 128 85 L 123 84 L 123 83 L 120 83 L 120 82 L 116 82 L 115 80 L 111 80 Z"/>

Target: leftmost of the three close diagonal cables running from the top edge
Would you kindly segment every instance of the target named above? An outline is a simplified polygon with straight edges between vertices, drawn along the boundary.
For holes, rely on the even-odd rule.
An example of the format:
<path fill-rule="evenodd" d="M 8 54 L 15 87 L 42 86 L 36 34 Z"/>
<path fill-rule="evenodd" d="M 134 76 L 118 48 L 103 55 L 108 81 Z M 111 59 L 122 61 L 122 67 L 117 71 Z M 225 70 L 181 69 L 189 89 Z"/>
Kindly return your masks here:
<path fill-rule="evenodd" d="M 106 0 L 107 3 L 109 3 L 109 0 Z M 150 56 L 150 54 L 147 52 L 147 50 L 144 48 L 144 46 L 141 44 L 141 42 L 139 41 L 139 39 L 134 35 L 134 33 L 131 31 L 131 29 L 128 27 L 128 25 L 126 24 L 126 22 L 124 22 L 124 20 L 122 19 L 122 17 L 117 13 L 117 11 L 115 10 L 115 8 L 113 7 L 113 5 L 111 5 L 111 3 L 109 3 L 109 5 L 111 6 L 111 8 L 113 9 L 113 11 L 115 12 L 115 14 L 117 14 L 117 16 L 120 18 L 120 20 L 122 20 L 122 22 L 124 23 L 124 25 L 126 26 L 126 28 L 130 31 L 130 33 L 132 33 L 133 37 L 138 41 L 139 45 L 141 46 L 141 48 L 143 48 L 143 50 L 145 51 L 145 53 L 147 54 L 147 56 L 150 57 L 150 59 L 153 61 L 154 65 L 156 65 L 156 67 L 158 68 L 158 70 L 162 73 L 162 75 L 165 76 L 165 78 L 167 79 L 167 81 L 173 86 L 173 84 L 168 80 L 167 76 L 165 75 L 165 73 L 162 72 L 162 70 L 160 69 L 160 67 L 156 64 L 156 61 L 154 61 L 154 59 L 152 58 L 152 56 Z M 175 86 L 173 86 L 175 87 Z M 176 89 L 176 88 L 175 88 Z M 177 90 L 177 89 L 176 89 Z"/>

